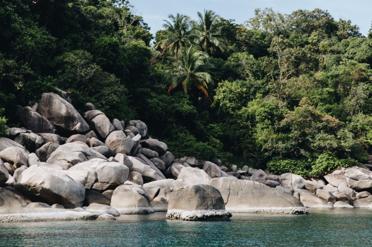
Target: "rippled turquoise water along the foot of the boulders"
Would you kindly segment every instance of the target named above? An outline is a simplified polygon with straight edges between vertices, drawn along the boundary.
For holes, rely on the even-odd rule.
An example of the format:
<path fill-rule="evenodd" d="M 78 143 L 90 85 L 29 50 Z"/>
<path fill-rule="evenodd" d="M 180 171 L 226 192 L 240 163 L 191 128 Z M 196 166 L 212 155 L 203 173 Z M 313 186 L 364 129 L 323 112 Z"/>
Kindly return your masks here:
<path fill-rule="evenodd" d="M 364 209 L 235 214 L 229 222 L 164 218 L 0 224 L 0 246 L 372 246 L 372 211 Z"/>

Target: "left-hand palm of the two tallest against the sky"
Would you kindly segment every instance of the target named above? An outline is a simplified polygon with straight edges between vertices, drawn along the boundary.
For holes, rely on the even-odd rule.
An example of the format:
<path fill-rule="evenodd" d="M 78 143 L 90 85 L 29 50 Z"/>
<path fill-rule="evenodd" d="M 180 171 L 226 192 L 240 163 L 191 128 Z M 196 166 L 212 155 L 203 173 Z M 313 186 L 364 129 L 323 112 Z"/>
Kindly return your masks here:
<path fill-rule="evenodd" d="M 195 39 L 195 30 L 190 29 L 191 21 L 188 16 L 177 13 L 176 16 L 169 15 L 168 18 L 170 21 L 164 20 L 165 31 L 160 36 L 161 40 L 155 44 L 155 48 L 161 48 L 163 51 L 169 49 L 178 57 L 179 48 Z"/>

